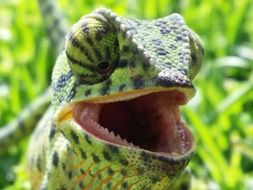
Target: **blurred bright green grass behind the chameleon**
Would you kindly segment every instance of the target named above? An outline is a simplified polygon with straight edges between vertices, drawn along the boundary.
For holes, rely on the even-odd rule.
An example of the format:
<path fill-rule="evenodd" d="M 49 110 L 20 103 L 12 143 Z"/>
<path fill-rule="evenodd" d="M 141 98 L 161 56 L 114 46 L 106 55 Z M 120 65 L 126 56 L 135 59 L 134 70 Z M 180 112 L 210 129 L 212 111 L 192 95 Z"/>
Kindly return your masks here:
<path fill-rule="evenodd" d="M 253 1 L 61 0 L 70 23 L 96 7 L 138 18 L 182 14 L 205 44 L 198 93 L 183 108 L 197 150 L 193 189 L 253 189 Z M 36 1 L 0 0 L 0 126 L 50 83 L 55 58 Z M 0 189 L 27 189 L 27 139 L 0 158 Z M 17 177 L 16 177 L 17 175 Z"/>

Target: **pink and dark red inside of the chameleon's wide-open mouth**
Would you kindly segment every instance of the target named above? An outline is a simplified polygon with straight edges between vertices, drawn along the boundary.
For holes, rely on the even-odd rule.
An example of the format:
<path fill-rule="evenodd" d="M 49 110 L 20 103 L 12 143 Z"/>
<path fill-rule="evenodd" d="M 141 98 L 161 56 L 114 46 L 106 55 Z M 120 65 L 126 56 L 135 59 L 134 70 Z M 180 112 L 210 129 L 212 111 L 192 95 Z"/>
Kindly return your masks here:
<path fill-rule="evenodd" d="M 117 145 L 167 156 L 192 149 L 193 136 L 180 119 L 186 97 L 177 90 L 111 103 L 75 103 L 74 120 L 89 134 Z"/>

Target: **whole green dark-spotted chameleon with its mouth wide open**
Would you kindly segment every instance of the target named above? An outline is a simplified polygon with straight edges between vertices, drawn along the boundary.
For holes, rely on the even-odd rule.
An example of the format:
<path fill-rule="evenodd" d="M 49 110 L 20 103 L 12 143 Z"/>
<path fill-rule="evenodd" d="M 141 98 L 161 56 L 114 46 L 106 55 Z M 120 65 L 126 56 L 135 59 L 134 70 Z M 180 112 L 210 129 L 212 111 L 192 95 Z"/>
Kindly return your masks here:
<path fill-rule="evenodd" d="M 65 25 L 59 15 L 48 25 L 60 49 Z M 1 151 L 47 109 L 28 148 L 33 189 L 189 188 L 175 185 L 195 149 L 179 106 L 195 93 L 203 53 L 178 14 L 146 21 L 95 10 L 67 33 L 51 90 L 1 129 Z"/>

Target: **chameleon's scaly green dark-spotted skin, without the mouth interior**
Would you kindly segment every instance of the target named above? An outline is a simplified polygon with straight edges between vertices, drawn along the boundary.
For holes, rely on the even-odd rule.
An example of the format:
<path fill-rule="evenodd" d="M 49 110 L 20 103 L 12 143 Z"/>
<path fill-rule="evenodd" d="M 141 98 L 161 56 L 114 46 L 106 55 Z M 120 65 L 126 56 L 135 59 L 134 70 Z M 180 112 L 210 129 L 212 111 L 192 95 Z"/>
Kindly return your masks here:
<path fill-rule="evenodd" d="M 101 8 L 81 18 L 56 61 L 52 106 L 29 145 L 32 187 L 171 188 L 192 157 L 194 143 L 174 155 L 119 145 L 84 130 L 73 110 L 80 102 L 99 105 L 175 90 L 187 101 L 195 93 L 192 79 L 202 56 L 198 36 L 178 14 L 144 21 Z"/>

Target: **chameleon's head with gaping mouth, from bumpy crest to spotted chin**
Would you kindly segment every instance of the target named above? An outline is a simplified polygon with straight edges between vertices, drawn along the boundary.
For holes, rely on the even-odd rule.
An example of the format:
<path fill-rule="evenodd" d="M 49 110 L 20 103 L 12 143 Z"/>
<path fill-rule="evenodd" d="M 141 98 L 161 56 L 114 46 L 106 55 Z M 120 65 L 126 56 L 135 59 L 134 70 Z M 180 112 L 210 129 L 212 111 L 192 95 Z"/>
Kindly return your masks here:
<path fill-rule="evenodd" d="M 166 188 L 194 152 L 179 106 L 202 59 L 178 14 L 144 21 L 98 9 L 73 26 L 54 68 L 56 126 L 95 170 L 120 171 L 117 183 Z"/>

